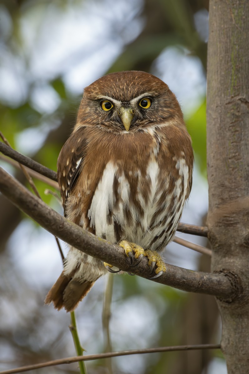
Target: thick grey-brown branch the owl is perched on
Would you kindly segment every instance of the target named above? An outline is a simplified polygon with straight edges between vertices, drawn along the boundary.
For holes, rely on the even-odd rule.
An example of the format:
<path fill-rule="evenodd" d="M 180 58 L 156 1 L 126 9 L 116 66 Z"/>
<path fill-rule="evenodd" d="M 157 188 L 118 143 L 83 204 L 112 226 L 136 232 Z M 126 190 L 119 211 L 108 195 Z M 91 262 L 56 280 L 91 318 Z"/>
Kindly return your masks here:
<path fill-rule="evenodd" d="M 130 266 L 121 247 L 98 238 L 68 221 L 36 196 L 33 196 L 2 168 L 0 168 L 0 191 L 42 227 L 80 251 L 119 267 L 121 270 L 149 279 L 150 269 L 146 258 L 143 258 L 137 267 Z M 216 295 L 225 300 L 232 300 L 236 296 L 236 279 L 230 281 L 230 276 L 225 276 L 222 273 L 195 272 L 170 264 L 166 264 L 166 267 L 167 272 L 155 282 L 183 291 Z"/>

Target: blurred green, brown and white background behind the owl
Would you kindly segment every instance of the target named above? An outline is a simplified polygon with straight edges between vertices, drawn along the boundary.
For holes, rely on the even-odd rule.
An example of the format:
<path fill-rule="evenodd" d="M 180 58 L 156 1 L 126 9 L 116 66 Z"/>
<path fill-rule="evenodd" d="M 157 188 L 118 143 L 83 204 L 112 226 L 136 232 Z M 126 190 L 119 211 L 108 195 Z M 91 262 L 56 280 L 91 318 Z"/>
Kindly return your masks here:
<path fill-rule="evenodd" d="M 0 1 L 1 132 L 13 148 L 56 170 L 85 86 L 113 71 L 155 74 L 176 94 L 193 140 L 193 188 L 182 222 L 205 224 L 208 6 L 208 0 Z M 0 165 L 27 184 L 3 156 Z M 63 214 L 57 199 L 45 194 L 47 188 L 56 190 L 35 183 L 42 199 Z M 177 236 L 208 245 L 203 238 Z M 207 255 L 176 243 L 168 245 L 163 256 L 177 266 L 210 269 Z M 54 237 L 0 195 L 1 370 L 75 356 L 70 315 L 43 305 L 61 269 Z M 108 304 L 103 305 L 112 281 L 110 343 Z M 87 354 L 219 343 L 221 335 L 213 297 L 187 294 L 137 276 L 98 280 L 76 316 Z M 77 367 L 61 365 L 32 373 L 78 373 Z M 227 373 L 218 350 L 124 356 L 87 362 L 86 367 L 88 374 Z"/>

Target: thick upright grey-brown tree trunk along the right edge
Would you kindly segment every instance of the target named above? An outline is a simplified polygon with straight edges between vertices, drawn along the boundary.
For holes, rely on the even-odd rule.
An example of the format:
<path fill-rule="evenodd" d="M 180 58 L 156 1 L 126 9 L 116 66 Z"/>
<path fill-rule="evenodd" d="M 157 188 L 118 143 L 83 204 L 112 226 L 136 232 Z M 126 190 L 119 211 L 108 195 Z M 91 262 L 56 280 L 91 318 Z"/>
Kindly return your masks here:
<path fill-rule="evenodd" d="M 207 174 L 212 271 L 237 279 L 217 300 L 229 374 L 249 373 L 249 1 L 210 0 Z M 235 275 L 235 277 L 234 277 Z"/>

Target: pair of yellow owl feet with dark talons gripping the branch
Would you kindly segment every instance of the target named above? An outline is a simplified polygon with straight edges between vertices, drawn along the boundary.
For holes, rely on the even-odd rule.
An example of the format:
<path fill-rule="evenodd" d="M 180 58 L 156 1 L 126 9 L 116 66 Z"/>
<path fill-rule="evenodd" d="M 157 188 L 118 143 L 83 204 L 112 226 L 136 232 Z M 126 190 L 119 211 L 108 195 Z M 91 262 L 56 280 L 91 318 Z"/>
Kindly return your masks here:
<path fill-rule="evenodd" d="M 130 258 L 132 266 L 137 266 L 142 260 L 143 256 L 148 257 L 149 266 L 151 266 L 151 275 L 155 272 L 155 276 L 149 279 L 157 279 L 166 272 L 166 266 L 160 254 L 156 251 L 146 249 L 146 251 L 138 244 L 121 240 L 119 245 L 124 248 L 125 254 Z M 134 257 L 133 257 L 134 254 Z M 134 258 L 137 261 L 134 263 Z"/>

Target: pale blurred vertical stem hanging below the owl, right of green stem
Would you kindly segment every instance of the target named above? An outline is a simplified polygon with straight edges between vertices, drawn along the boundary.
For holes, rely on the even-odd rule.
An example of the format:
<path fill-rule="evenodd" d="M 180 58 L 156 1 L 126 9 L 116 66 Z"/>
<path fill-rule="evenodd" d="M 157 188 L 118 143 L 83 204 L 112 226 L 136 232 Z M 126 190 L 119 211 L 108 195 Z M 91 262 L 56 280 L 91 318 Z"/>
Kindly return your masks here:
<path fill-rule="evenodd" d="M 111 303 L 112 303 L 112 291 L 113 291 L 113 274 L 109 274 L 106 283 L 106 291 L 104 293 L 104 303 L 102 312 L 102 325 L 104 332 L 104 351 L 112 351 L 112 342 L 110 337 L 110 318 L 111 318 Z M 106 359 L 106 367 L 109 370 L 109 374 L 112 374 L 112 359 Z"/>

